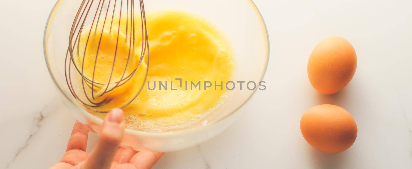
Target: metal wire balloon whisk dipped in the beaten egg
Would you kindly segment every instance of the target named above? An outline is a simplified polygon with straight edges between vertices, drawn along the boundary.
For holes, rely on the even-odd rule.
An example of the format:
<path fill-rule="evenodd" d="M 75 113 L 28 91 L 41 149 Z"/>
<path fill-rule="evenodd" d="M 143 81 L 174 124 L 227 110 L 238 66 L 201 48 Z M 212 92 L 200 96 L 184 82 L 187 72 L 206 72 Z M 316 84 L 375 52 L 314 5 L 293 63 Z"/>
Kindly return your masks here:
<path fill-rule="evenodd" d="M 149 43 L 147 38 L 145 7 L 143 0 L 139 0 L 138 6 L 140 6 L 140 22 L 135 21 L 135 16 L 139 14 L 135 14 L 134 0 L 82 0 L 82 3 L 79 7 L 79 10 L 77 11 L 70 30 L 68 41 L 69 45 L 66 53 L 64 68 L 66 82 L 68 88 L 70 89 L 70 92 L 85 107 L 89 107 L 98 112 L 108 112 L 111 108 L 114 107 L 123 108 L 131 103 L 131 101 L 136 98 L 136 96 L 143 89 L 149 68 Z M 121 23 L 124 23 L 124 18 L 126 18 L 125 33 L 121 32 L 121 28 L 124 28 L 121 27 Z M 114 19 L 119 20 L 118 24 L 114 21 Z M 88 26 L 89 24 L 86 23 L 91 23 L 90 27 Z M 138 24 L 136 25 L 136 23 Z M 140 37 L 140 32 L 135 32 L 136 30 L 140 31 L 140 24 L 141 43 L 140 41 L 137 41 L 140 40 L 140 38 L 138 38 Z M 102 46 L 104 46 L 104 43 L 107 42 L 105 42 L 104 40 L 102 41 L 102 38 L 103 32 L 106 30 L 108 30 L 109 33 L 114 34 L 113 37 L 116 38 L 116 43 L 114 55 L 112 55 L 113 60 L 110 77 L 106 78 L 108 79 L 107 81 L 101 82 L 96 80 L 96 65 L 98 64 L 98 59 L 100 59 L 99 57 L 102 57 L 99 55 L 99 52 L 101 52 L 101 50 L 105 50 L 105 48 Z M 126 34 L 124 39 L 120 37 L 121 34 Z M 115 35 L 117 35 L 117 37 Z M 98 43 L 96 41 L 96 48 L 89 49 L 90 46 L 92 46 L 91 41 L 93 40 L 91 39 L 93 39 L 93 37 L 95 38 L 95 40 L 98 39 Z M 84 44 L 81 39 L 86 38 L 87 41 Z M 135 44 L 137 44 L 136 41 L 139 45 L 141 45 L 141 48 L 137 47 L 135 49 Z M 115 70 L 115 62 L 117 62 L 116 57 L 118 57 L 118 59 L 123 59 L 123 56 L 118 56 L 119 48 L 122 48 L 121 44 L 129 45 L 127 61 L 126 65 L 124 66 L 123 73 L 120 73 L 122 74 L 121 77 L 115 78 L 113 77 L 113 72 Z M 89 76 L 86 75 L 84 66 L 87 52 L 95 52 L 93 54 L 93 57 L 95 57 L 93 73 L 91 75 L 89 73 Z M 140 57 L 138 57 L 139 53 Z M 144 61 L 144 59 L 147 60 Z M 133 60 L 136 62 L 133 62 Z M 134 64 L 132 64 L 131 62 L 133 62 Z M 146 62 L 147 64 L 146 69 L 142 68 L 145 72 L 143 72 L 143 74 L 136 73 L 140 70 L 138 68 L 142 65 L 142 62 Z M 75 69 L 73 69 L 73 66 L 75 67 Z M 91 70 L 91 68 L 88 68 L 88 70 Z M 127 73 L 127 70 L 131 71 Z M 77 73 L 73 75 L 72 71 Z M 108 69 L 107 71 L 110 71 L 110 69 Z M 122 87 L 123 85 L 127 84 L 127 82 L 133 81 L 133 78 L 136 78 L 136 76 L 138 76 L 139 74 L 144 75 L 144 80 L 140 84 L 131 85 L 132 87 L 136 87 L 136 85 L 138 86 L 136 90 L 129 91 L 132 93 L 124 94 L 120 92 L 121 94 L 117 95 L 110 94 L 111 91 L 112 93 L 114 93 L 117 88 Z M 123 87 L 127 88 L 127 86 Z M 112 104 L 108 106 L 108 103 Z"/>

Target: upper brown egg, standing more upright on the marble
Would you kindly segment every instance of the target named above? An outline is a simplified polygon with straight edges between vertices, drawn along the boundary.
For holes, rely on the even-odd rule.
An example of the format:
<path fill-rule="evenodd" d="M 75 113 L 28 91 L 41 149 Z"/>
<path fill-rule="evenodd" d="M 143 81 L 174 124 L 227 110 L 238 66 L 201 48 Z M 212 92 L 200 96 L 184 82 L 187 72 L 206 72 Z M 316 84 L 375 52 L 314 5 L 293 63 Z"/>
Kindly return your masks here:
<path fill-rule="evenodd" d="M 356 53 L 349 41 L 329 37 L 313 49 L 308 61 L 312 86 L 323 94 L 334 94 L 351 81 L 356 71 Z"/>

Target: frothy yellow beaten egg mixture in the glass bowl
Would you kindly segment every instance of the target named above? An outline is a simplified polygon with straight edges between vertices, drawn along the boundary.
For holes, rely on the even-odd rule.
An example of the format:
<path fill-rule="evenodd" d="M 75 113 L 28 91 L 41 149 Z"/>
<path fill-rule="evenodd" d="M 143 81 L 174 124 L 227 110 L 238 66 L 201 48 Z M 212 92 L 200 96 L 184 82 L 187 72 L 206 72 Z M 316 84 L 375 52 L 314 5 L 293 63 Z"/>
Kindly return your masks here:
<path fill-rule="evenodd" d="M 135 130 L 162 132 L 190 125 L 224 100 L 227 92 L 225 82 L 232 80 L 234 75 L 232 48 L 211 23 L 199 16 L 181 11 L 162 11 L 147 15 L 146 19 L 150 47 L 149 69 L 140 94 L 123 108 L 126 126 Z M 122 77 L 124 70 L 126 73 L 123 77 L 134 71 L 142 48 L 141 25 L 136 22 L 136 42 L 134 48 L 130 50 L 131 57 L 128 61 L 129 48 L 133 45 L 129 40 L 130 33 L 126 34 L 126 25 L 130 29 L 129 24 L 130 18 L 129 23 L 126 23 L 124 17 L 120 19 L 120 24 L 119 18 L 113 19 L 115 26 L 111 31 L 110 22 L 105 24 L 105 28 L 98 26 L 96 32 L 92 29 L 91 34 L 94 35 L 89 37 L 87 52 L 84 57 L 78 57 L 77 62 L 80 63 L 80 60 L 84 59 L 85 77 L 91 78 L 95 71 L 95 81 L 107 82 L 112 66 L 115 65 L 112 80 L 116 82 Z M 84 46 L 87 42 L 89 31 L 85 32 L 87 34 L 83 33 L 80 38 L 80 46 Z M 101 47 L 94 68 L 96 45 L 100 34 Z M 117 59 L 113 63 L 116 42 Z M 80 53 L 82 52 L 84 51 L 80 50 Z M 147 68 L 147 55 L 144 57 L 130 81 L 95 99 L 125 97 L 124 100 L 120 99 L 105 105 L 115 107 L 131 97 L 132 94 L 128 95 L 129 93 L 138 91 Z M 126 63 L 128 63 L 127 68 Z M 204 89 L 205 81 L 210 81 L 212 87 Z M 215 90 L 215 81 L 217 85 L 223 82 L 222 89 L 217 87 Z M 159 86 L 159 82 L 163 85 L 167 84 L 166 89 Z M 194 84 L 200 82 L 200 90 L 199 87 L 191 89 L 191 82 Z M 105 87 L 97 87 L 96 94 L 99 94 L 102 89 Z"/>

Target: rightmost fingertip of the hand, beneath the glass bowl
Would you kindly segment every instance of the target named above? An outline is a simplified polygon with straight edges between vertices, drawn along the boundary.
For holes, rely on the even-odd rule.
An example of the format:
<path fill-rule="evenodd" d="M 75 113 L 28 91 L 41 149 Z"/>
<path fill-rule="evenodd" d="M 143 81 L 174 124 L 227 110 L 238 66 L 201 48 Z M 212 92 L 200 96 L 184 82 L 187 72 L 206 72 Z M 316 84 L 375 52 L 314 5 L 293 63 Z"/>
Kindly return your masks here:
<path fill-rule="evenodd" d="M 140 151 L 131 158 L 130 163 L 137 169 L 150 169 L 162 157 L 161 152 Z"/>

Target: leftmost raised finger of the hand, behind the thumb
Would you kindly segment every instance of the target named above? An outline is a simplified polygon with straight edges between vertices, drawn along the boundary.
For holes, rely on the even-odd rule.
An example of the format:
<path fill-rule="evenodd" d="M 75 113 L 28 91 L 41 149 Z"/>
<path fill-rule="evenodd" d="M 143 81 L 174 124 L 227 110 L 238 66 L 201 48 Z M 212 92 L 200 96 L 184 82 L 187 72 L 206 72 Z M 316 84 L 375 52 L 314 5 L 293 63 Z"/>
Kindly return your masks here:
<path fill-rule="evenodd" d="M 86 151 L 88 135 L 89 129 L 84 124 L 76 120 L 66 151 L 74 149 Z"/>

